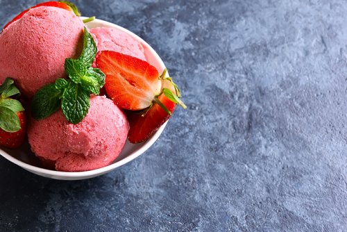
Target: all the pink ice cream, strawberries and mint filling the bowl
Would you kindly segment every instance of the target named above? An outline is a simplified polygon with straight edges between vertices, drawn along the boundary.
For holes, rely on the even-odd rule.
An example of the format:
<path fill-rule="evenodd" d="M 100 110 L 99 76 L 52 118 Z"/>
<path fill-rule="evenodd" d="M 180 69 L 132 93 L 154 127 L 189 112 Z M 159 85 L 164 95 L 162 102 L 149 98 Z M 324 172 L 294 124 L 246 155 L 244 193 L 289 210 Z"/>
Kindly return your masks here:
<path fill-rule="evenodd" d="M 0 33 L 6 144 L 20 146 L 15 136 L 27 133 L 42 165 L 65 172 L 110 165 L 127 140 L 148 140 L 176 104 L 185 108 L 145 42 L 117 27 L 87 29 L 83 22 L 94 17 L 77 15 L 72 3 L 48 1 L 24 10 Z M 13 84 L 25 109 L 12 101 L 19 93 Z"/>

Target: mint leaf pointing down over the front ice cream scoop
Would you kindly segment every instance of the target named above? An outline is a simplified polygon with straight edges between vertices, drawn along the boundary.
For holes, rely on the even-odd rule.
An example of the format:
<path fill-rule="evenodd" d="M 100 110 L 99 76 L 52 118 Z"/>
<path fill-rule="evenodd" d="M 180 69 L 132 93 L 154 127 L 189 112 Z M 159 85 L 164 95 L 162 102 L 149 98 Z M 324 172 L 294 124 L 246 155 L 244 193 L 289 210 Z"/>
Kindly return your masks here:
<path fill-rule="evenodd" d="M 62 113 L 73 124 L 81 122 L 90 108 L 90 94 L 81 85 L 70 82 L 62 96 Z"/>

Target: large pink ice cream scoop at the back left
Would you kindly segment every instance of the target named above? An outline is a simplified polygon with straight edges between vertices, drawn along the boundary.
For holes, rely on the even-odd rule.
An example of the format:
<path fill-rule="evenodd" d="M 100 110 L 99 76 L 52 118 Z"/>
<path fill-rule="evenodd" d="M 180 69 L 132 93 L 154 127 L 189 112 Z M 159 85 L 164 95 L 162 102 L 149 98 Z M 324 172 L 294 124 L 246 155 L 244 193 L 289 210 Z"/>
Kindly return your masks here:
<path fill-rule="evenodd" d="M 29 10 L 0 34 L 0 83 L 15 79 L 25 97 L 66 76 L 66 58 L 80 55 L 84 24 L 74 13 L 56 7 Z"/>

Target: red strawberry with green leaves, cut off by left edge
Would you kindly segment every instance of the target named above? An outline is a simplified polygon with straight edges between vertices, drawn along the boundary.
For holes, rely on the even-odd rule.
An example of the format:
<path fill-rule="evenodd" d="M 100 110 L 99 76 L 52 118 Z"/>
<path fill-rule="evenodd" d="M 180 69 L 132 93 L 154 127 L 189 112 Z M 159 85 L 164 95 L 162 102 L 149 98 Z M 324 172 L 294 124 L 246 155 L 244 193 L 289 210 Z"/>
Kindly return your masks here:
<path fill-rule="evenodd" d="M 22 103 L 12 99 L 19 95 L 11 78 L 6 78 L 0 86 L 0 145 L 17 148 L 23 142 L 26 134 L 26 115 Z"/>

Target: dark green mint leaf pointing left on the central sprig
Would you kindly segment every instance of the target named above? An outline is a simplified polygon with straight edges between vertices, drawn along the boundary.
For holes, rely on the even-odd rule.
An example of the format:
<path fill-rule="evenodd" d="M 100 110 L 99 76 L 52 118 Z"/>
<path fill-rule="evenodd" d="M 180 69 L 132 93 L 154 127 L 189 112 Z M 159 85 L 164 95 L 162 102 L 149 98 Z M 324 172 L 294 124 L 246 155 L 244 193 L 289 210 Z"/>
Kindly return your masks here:
<path fill-rule="evenodd" d="M 46 85 L 37 91 L 31 101 L 31 115 L 35 119 L 44 119 L 55 113 L 60 106 L 62 90 L 55 84 Z"/>

